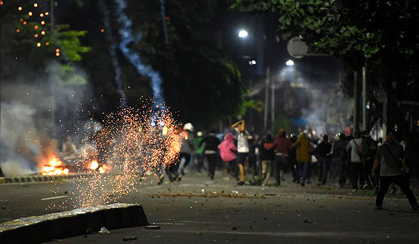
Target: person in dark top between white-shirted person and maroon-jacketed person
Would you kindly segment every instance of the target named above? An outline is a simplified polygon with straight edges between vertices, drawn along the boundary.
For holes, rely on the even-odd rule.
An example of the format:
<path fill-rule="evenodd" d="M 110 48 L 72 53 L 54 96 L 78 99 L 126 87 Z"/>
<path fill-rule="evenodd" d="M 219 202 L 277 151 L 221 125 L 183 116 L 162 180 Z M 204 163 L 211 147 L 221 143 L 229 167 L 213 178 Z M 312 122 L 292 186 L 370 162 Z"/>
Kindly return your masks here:
<path fill-rule="evenodd" d="M 262 160 L 262 185 L 269 181 L 272 162 L 275 160 L 275 148 L 272 142 L 272 135 L 267 135 L 259 144 L 260 160 Z"/>

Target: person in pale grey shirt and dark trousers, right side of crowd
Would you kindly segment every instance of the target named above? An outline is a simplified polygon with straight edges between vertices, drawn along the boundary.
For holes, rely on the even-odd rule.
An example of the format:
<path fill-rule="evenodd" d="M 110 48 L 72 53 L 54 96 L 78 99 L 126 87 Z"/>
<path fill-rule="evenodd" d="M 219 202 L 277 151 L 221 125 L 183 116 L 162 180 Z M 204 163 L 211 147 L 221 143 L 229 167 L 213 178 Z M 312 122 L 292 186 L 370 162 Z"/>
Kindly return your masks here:
<path fill-rule="evenodd" d="M 362 183 L 362 139 L 359 131 L 355 131 L 353 137 L 346 146 L 346 151 L 351 150 L 349 179 L 351 180 L 352 192 L 356 192 L 358 190 L 358 179 Z"/>

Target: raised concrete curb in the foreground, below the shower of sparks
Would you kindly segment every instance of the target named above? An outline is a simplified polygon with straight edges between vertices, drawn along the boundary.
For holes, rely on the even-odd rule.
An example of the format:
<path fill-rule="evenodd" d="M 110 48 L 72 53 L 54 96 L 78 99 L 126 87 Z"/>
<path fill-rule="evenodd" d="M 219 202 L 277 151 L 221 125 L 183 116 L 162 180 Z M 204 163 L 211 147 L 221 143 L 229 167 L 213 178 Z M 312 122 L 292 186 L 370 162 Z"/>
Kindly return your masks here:
<path fill-rule="evenodd" d="M 31 216 L 0 223 L 1 243 L 43 243 L 97 232 L 149 224 L 142 206 L 110 204 Z"/>

